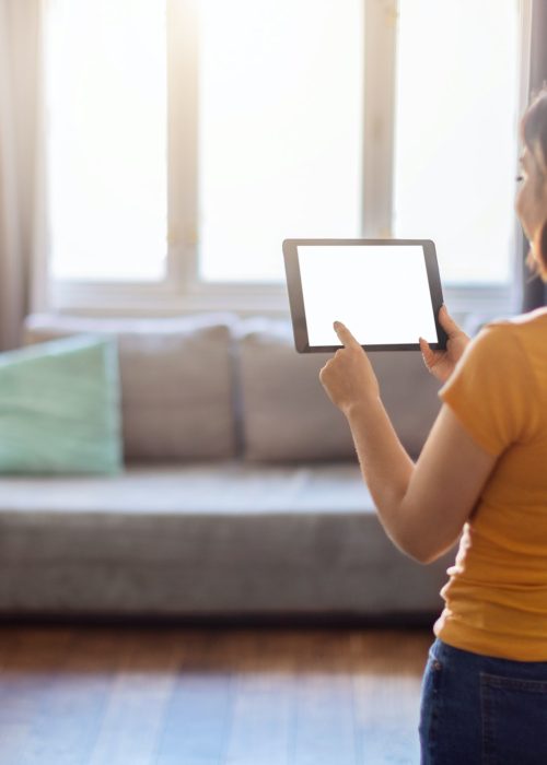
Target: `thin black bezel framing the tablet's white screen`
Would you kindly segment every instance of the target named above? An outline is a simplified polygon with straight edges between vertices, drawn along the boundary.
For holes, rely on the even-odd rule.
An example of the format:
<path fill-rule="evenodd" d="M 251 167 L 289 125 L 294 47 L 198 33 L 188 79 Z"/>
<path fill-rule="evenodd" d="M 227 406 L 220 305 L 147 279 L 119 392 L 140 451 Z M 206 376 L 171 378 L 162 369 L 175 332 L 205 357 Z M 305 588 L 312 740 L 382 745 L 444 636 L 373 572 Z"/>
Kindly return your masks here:
<path fill-rule="evenodd" d="M 304 310 L 304 297 L 302 293 L 302 281 L 298 258 L 298 247 L 306 245 L 324 246 L 408 246 L 419 245 L 422 247 L 428 274 L 429 293 L 433 307 L 438 343 L 429 343 L 433 350 L 446 349 L 446 333 L 439 322 L 439 309 L 443 304 L 441 276 L 437 262 L 435 245 L 431 239 L 284 239 L 283 259 L 287 276 L 287 287 L 289 293 L 289 305 L 291 309 L 292 329 L 294 333 L 294 345 L 299 353 L 327 353 L 337 351 L 342 345 L 310 345 L 307 341 L 307 325 Z M 351 330 L 351 327 L 348 327 Z M 370 344 L 362 345 L 365 351 L 419 351 L 420 344 L 416 343 L 393 343 L 393 344 Z"/>

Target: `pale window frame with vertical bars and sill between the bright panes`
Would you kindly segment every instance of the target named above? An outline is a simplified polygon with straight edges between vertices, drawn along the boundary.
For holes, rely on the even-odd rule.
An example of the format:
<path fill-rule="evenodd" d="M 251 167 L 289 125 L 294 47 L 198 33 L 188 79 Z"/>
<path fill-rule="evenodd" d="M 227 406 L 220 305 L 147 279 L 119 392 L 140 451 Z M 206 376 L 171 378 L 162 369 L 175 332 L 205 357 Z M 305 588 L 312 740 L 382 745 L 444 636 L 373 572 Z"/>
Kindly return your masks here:
<path fill-rule="evenodd" d="M 50 279 L 54 310 L 93 315 L 173 315 L 229 310 L 288 315 L 284 284 L 198 279 L 198 62 L 194 0 L 164 0 L 167 20 L 167 273 L 159 283 Z M 399 0 L 364 3 L 362 236 L 391 235 L 396 31 Z M 520 114 L 528 101 L 532 2 L 520 0 Z M 370 61 L 374 60 L 374 66 Z M 379 66 L 381 60 L 381 66 Z M 380 76 L 381 75 L 381 76 Z M 188 119 L 188 115 L 193 118 Z M 514 167 L 517 174 L 519 151 Z M 365 179 L 365 180 L 364 180 Z M 452 314 L 499 316 L 522 305 L 523 237 L 515 217 L 513 280 L 507 285 L 445 286 Z M 281 257 L 281 246 L 280 246 Z"/>

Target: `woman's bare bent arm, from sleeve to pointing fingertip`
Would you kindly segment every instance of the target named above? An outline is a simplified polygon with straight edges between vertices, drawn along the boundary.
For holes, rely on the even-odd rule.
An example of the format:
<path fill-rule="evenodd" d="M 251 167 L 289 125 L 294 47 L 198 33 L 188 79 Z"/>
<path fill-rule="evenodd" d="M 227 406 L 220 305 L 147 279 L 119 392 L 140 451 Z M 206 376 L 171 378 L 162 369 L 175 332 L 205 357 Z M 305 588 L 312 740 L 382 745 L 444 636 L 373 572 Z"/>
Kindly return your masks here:
<path fill-rule="evenodd" d="M 323 367 L 321 381 L 348 420 L 387 536 L 406 554 L 430 563 L 457 540 L 497 458 L 443 404 L 415 464 L 380 399 L 366 354 L 344 325 L 335 329 L 345 348 Z"/>

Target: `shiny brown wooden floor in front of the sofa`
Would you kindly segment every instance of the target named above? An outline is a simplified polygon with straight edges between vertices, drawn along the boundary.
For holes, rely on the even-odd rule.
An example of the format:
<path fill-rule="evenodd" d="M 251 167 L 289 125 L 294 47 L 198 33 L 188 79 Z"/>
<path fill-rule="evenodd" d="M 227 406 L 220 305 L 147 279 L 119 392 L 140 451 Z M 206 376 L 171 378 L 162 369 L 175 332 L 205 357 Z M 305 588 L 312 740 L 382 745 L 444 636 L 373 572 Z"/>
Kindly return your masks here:
<path fill-rule="evenodd" d="M 415 765 L 432 640 L 0 627 L 0 765 Z"/>

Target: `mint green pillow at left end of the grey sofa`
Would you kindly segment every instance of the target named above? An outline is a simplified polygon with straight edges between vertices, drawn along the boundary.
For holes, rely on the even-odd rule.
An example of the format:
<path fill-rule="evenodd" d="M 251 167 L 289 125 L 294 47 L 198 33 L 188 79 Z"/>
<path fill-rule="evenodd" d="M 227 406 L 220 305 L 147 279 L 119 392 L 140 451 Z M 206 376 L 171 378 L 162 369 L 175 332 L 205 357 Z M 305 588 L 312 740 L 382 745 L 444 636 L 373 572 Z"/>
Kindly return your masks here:
<path fill-rule="evenodd" d="M 75 336 L 0 353 L 0 473 L 117 473 L 116 341 Z"/>

